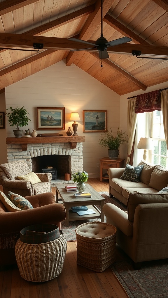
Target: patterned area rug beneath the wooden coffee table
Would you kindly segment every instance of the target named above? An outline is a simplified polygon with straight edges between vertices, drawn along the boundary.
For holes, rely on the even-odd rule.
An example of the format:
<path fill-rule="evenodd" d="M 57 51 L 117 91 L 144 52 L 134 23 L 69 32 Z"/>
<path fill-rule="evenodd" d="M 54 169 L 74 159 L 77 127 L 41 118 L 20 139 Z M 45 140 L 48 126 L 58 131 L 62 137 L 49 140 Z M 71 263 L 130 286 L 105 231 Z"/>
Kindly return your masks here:
<path fill-rule="evenodd" d="M 120 203 L 116 198 L 114 198 L 114 197 L 110 198 L 108 192 L 99 192 L 99 194 L 102 195 L 103 198 L 105 198 L 105 204 L 112 203 L 112 204 L 118 206 L 120 209 L 126 210 L 126 206 L 124 204 Z M 100 209 L 100 205 L 97 205 L 97 207 Z M 69 226 L 65 226 L 65 221 L 62 221 L 61 229 L 64 233 L 63 235 L 64 235 L 65 239 L 67 241 L 75 241 L 77 239 L 76 233 L 75 233 L 75 229 L 77 228 L 77 226 L 79 226 L 80 224 L 84 224 L 87 222 L 93 222 L 93 221 L 100 221 L 100 218 L 79 220 L 79 221 L 70 221 Z M 106 222 L 106 217 L 105 217 L 105 222 Z"/>

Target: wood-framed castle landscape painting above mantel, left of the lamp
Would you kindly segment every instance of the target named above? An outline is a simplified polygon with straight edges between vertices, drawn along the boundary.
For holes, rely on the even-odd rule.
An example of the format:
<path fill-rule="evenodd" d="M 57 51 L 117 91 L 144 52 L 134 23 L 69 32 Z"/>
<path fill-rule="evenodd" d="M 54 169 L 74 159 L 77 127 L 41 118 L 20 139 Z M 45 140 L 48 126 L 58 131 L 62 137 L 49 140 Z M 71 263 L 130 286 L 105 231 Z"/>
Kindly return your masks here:
<path fill-rule="evenodd" d="M 36 107 L 37 130 L 65 130 L 65 108 Z"/>

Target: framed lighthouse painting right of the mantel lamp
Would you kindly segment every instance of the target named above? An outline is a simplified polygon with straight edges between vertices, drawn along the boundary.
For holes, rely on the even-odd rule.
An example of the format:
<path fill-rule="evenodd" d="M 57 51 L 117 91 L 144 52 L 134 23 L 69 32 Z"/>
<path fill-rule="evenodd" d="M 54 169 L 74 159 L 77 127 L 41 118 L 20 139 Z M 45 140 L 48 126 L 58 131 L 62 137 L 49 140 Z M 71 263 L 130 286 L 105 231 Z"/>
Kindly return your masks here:
<path fill-rule="evenodd" d="M 106 132 L 107 111 L 83 111 L 83 132 Z"/>

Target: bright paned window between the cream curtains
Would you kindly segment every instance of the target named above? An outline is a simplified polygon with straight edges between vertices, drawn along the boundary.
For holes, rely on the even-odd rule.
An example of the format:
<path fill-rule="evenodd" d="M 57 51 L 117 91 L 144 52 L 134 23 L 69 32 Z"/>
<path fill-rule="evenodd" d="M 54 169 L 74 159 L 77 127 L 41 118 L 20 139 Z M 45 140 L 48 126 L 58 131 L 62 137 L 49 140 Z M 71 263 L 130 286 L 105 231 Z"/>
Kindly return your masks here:
<path fill-rule="evenodd" d="M 164 136 L 162 111 L 146 114 L 151 114 L 151 137 L 154 144 L 154 150 L 151 150 L 149 161 L 152 164 L 160 164 L 168 168 L 168 151 Z M 149 116 L 147 115 L 147 117 Z"/>

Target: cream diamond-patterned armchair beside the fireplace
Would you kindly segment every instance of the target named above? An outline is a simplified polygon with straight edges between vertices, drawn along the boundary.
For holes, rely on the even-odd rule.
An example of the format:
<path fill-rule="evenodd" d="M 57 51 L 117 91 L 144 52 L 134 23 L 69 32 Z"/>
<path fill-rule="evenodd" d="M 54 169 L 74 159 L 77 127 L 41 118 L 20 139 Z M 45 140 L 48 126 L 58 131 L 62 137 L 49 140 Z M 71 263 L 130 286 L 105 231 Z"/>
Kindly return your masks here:
<path fill-rule="evenodd" d="M 30 172 L 30 169 L 25 161 L 15 161 L 1 164 L 0 184 L 3 187 L 4 194 L 8 195 L 8 190 L 22 196 L 51 192 L 51 173 L 33 173 L 35 179 L 30 179 L 32 182 L 18 179 L 18 177 L 28 175 L 29 173 L 32 172 Z M 29 178 L 23 177 L 23 179 Z"/>

